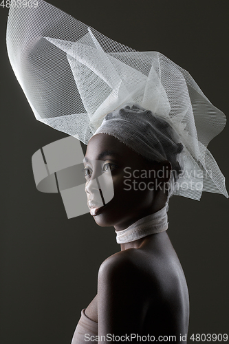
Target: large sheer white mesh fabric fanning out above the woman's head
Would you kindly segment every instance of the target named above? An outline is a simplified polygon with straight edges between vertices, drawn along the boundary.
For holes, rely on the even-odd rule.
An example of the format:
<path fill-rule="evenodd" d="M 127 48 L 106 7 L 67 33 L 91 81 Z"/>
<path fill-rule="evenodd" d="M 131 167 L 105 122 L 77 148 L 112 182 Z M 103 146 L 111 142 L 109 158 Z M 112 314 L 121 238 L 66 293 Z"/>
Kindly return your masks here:
<path fill-rule="evenodd" d="M 228 197 L 225 178 L 206 148 L 226 117 L 166 56 L 136 52 L 43 0 L 37 8 L 10 8 L 7 49 L 37 120 L 87 144 L 106 114 L 137 103 L 177 131 L 185 170 L 204 172 L 201 190 L 192 189 L 195 177 L 189 174 L 182 177 L 188 188 L 177 187 L 175 194 L 199 200 L 209 191 Z"/>

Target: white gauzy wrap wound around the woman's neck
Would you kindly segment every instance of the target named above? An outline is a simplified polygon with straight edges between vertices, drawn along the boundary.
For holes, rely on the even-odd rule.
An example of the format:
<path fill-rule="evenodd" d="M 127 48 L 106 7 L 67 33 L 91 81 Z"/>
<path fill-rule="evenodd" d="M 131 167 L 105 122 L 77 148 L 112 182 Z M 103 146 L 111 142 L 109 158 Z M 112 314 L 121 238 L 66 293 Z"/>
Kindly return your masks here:
<path fill-rule="evenodd" d="M 134 222 L 126 229 L 116 230 L 116 241 L 118 244 L 126 244 L 146 237 L 146 235 L 164 232 L 164 230 L 168 229 L 167 211 L 168 203 L 160 211 L 138 219 L 137 222 Z"/>

